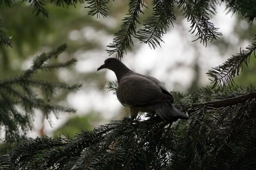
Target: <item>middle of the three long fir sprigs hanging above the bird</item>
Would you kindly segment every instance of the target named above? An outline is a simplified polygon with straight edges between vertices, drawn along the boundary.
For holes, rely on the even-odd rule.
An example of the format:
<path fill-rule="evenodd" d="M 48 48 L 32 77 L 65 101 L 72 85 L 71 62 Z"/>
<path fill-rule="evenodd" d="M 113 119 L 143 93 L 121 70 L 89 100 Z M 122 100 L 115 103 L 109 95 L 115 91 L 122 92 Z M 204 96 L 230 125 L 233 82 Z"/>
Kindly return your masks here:
<path fill-rule="evenodd" d="M 176 0 L 154 0 L 153 13 L 145 21 L 144 28 L 139 29 L 136 38 L 148 45 L 156 48 L 157 44 L 163 42 L 162 36 L 166 33 L 169 24 L 176 20 L 174 16 L 174 3 Z"/>

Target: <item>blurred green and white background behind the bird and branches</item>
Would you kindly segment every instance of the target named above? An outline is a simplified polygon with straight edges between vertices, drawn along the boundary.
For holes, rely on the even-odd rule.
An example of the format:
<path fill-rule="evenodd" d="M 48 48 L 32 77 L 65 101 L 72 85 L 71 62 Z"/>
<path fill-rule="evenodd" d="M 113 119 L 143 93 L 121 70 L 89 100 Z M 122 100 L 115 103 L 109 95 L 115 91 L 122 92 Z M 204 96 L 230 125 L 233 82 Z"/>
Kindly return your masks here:
<path fill-rule="evenodd" d="M 15 76 L 29 68 L 31 60 L 42 52 L 47 52 L 66 43 L 67 50 L 57 57 L 59 61 L 76 57 L 78 62 L 72 68 L 63 68 L 54 73 L 38 73 L 40 79 L 81 83 L 83 87 L 72 93 L 57 93 L 56 104 L 77 109 L 74 114 L 59 114 L 47 121 L 40 110 L 34 119 L 34 130 L 29 137 L 56 136 L 62 132 L 73 136 L 82 129 L 93 129 L 110 120 L 129 116 L 129 109 L 123 107 L 117 97 L 106 89 L 106 84 L 115 81 L 110 70 L 96 71 L 108 58 L 107 45 L 112 43 L 114 33 L 121 25 L 128 11 L 127 1 L 110 1 L 108 18 L 88 15 L 87 4 L 64 9 L 55 4 L 46 5 L 49 18 L 35 16 L 26 3 L 16 2 L 11 8 L 0 6 L 0 24 L 12 36 L 13 48 L 0 47 L 0 79 Z M 144 9 L 141 21 L 150 16 Z M 190 23 L 175 9 L 177 21 L 170 25 L 164 35 L 164 43 L 153 50 L 147 44 L 134 39 L 132 51 L 128 51 L 122 62 L 131 70 L 159 79 L 170 91 L 189 93 L 201 86 L 211 86 L 207 71 L 222 64 L 231 55 L 239 53 L 252 43 L 256 24 L 247 23 L 238 15 L 227 13 L 225 6 L 217 8 L 211 22 L 220 28 L 220 40 L 208 42 L 207 46 L 195 41 L 195 34 L 189 33 Z M 115 57 L 114 55 L 111 57 Z M 241 86 L 256 85 L 256 64 L 251 59 L 249 68 L 235 79 Z"/>

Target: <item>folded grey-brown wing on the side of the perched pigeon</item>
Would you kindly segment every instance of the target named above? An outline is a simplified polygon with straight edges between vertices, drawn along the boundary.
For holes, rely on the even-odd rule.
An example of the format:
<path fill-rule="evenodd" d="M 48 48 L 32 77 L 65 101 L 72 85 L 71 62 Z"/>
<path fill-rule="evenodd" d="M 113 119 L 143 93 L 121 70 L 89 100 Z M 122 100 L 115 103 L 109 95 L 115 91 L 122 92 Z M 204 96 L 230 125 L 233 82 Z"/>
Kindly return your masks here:
<path fill-rule="evenodd" d="M 152 106 L 162 102 L 173 102 L 173 97 L 165 89 L 146 77 L 132 74 L 123 77 L 117 88 L 117 99 L 128 107 Z"/>

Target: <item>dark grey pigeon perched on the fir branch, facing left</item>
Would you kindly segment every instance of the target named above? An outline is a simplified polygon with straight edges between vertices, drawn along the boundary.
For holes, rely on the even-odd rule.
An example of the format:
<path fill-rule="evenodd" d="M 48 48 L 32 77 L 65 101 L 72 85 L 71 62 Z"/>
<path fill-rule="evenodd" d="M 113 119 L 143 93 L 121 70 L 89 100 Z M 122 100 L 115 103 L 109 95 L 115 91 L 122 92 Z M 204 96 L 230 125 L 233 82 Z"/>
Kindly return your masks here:
<path fill-rule="evenodd" d="M 136 119 L 139 112 L 156 114 L 168 122 L 189 119 L 188 115 L 174 107 L 173 96 L 155 77 L 135 73 L 114 57 L 106 59 L 97 71 L 103 68 L 115 73 L 117 99 L 123 106 L 130 108 L 132 119 Z"/>

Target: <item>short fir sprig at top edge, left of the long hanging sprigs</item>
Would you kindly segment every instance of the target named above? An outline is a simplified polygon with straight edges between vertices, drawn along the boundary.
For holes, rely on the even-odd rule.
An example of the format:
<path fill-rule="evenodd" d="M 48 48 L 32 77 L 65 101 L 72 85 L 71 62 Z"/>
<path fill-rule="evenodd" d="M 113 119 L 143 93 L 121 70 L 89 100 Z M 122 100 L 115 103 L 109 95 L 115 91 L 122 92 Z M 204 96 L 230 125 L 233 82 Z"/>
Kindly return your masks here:
<path fill-rule="evenodd" d="M 97 18 L 99 17 L 107 17 L 108 16 L 108 4 L 109 0 L 88 0 L 87 3 L 90 4 L 88 7 L 90 11 L 88 11 L 88 15 L 97 15 Z"/>

